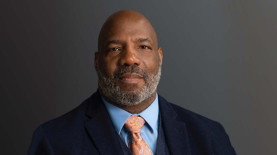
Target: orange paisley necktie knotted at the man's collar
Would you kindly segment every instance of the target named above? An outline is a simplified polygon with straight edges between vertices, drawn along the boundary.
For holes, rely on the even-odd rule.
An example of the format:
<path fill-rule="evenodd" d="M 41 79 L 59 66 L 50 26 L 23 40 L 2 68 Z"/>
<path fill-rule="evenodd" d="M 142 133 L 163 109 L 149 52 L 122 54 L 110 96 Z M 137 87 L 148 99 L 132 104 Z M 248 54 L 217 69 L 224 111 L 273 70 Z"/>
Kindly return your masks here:
<path fill-rule="evenodd" d="M 140 135 L 140 130 L 144 123 L 145 120 L 143 118 L 139 116 L 130 116 L 124 124 L 124 128 L 131 134 L 128 147 L 134 155 L 153 155 L 149 146 Z"/>

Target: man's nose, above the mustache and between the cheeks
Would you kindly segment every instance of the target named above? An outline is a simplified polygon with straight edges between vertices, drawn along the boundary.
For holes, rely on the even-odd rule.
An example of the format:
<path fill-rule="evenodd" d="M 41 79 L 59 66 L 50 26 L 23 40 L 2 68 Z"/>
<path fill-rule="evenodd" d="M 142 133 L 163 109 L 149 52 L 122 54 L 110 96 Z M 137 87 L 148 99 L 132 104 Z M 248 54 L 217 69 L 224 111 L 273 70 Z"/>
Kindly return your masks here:
<path fill-rule="evenodd" d="M 119 59 L 120 66 L 140 66 L 140 58 L 137 56 L 136 50 L 132 48 L 126 48 L 123 50 Z"/>

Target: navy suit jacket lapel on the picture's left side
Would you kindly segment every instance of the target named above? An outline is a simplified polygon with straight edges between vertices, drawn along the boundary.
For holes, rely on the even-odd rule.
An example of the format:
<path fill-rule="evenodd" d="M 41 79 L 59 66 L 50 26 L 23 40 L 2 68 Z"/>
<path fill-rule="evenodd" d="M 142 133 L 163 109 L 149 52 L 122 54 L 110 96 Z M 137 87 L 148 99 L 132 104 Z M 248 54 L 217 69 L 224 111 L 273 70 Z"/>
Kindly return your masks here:
<path fill-rule="evenodd" d="M 100 154 L 123 154 L 118 135 L 97 90 L 89 100 L 85 123 L 90 137 Z"/>

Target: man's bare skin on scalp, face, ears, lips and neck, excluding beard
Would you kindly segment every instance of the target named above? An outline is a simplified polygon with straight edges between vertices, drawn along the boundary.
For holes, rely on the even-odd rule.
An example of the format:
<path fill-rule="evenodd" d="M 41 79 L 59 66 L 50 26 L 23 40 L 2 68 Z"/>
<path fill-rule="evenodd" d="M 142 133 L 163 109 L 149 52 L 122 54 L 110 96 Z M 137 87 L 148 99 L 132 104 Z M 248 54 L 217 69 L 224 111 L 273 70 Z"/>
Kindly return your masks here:
<path fill-rule="evenodd" d="M 123 10 L 111 15 L 104 23 L 98 37 L 94 66 L 96 69 L 98 61 L 101 71 L 108 77 L 120 67 L 133 65 L 152 76 L 158 70 L 159 58 L 162 63 L 162 49 L 158 48 L 157 36 L 150 22 L 138 12 Z M 116 82 L 124 91 L 139 90 L 145 84 L 143 78 L 130 80 L 133 79 L 118 79 Z M 157 92 L 156 89 L 149 99 L 138 105 L 122 106 L 105 97 L 99 86 L 98 89 L 110 104 L 132 114 L 140 113 L 150 106 Z"/>

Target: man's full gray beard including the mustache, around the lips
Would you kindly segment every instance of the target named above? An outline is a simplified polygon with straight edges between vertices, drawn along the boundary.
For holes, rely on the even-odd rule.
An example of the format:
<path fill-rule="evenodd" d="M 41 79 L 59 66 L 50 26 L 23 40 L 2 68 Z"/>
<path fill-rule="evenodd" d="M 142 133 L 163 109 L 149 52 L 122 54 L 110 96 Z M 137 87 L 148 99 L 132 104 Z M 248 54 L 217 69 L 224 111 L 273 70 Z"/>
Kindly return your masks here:
<path fill-rule="evenodd" d="M 100 70 L 97 61 L 96 72 L 98 75 L 98 85 L 105 97 L 122 106 L 135 106 L 149 99 L 157 89 L 157 85 L 159 84 L 162 74 L 162 65 L 161 61 L 159 61 L 158 70 L 152 76 L 150 76 L 146 71 L 140 70 L 138 66 L 127 66 L 116 70 L 111 77 L 106 77 Z M 137 73 L 142 75 L 145 80 L 142 88 L 140 90 L 132 91 L 122 90 L 116 80 L 118 79 L 118 76 L 123 75 L 124 73 Z"/>

